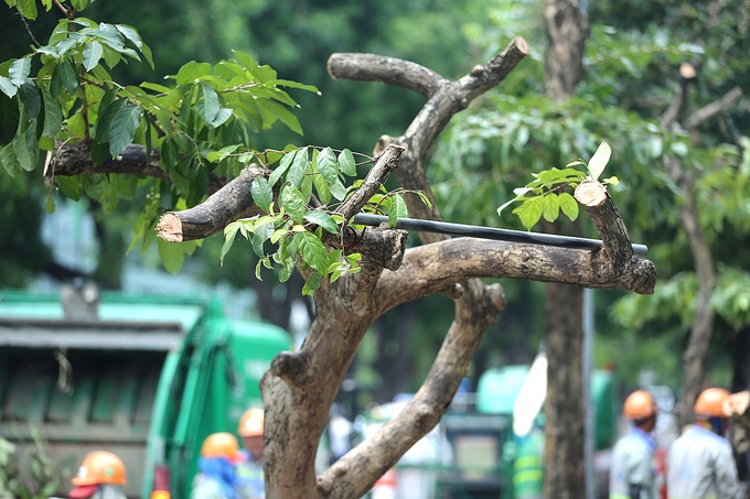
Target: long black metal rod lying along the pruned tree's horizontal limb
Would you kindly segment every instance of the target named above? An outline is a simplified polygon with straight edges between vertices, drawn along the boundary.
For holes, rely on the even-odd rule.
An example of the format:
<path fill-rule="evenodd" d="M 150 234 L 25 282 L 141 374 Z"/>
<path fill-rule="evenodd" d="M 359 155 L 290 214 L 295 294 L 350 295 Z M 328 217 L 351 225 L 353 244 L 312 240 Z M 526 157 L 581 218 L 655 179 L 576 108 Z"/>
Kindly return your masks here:
<path fill-rule="evenodd" d="M 376 227 L 387 224 L 388 217 L 382 215 L 357 214 L 354 215 L 354 224 Z M 449 236 L 478 237 L 494 239 L 497 241 L 525 242 L 531 245 L 557 246 L 559 248 L 597 250 L 604 243 L 599 239 L 580 237 L 556 236 L 554 234 L 524 232 L 523 230 L 495 229 L 475 225 L 449 224 L 447 221 L 419 220 L 417 218 L 399 218 L 396 228 L 416 230 L 418 232 L 446 234 Z M 649 247 L 645 245 L 632 245 L 633 252 L 645 256 Z"/>

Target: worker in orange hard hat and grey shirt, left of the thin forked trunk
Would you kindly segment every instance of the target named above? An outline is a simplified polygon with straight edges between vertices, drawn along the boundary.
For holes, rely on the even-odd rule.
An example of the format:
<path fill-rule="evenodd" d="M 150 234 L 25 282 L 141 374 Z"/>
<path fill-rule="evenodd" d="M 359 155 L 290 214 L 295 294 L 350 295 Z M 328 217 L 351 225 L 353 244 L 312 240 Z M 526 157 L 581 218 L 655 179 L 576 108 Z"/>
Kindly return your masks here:
<path fill-rule="evenodd" d="M 625 399 L 622 414 L 631 427 L 612 451 L 610 499 L 656 499 L 656 404 L 651 393 L 636 390 Z"/>

